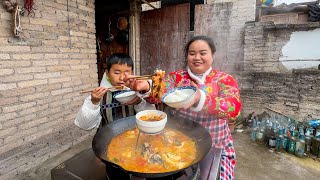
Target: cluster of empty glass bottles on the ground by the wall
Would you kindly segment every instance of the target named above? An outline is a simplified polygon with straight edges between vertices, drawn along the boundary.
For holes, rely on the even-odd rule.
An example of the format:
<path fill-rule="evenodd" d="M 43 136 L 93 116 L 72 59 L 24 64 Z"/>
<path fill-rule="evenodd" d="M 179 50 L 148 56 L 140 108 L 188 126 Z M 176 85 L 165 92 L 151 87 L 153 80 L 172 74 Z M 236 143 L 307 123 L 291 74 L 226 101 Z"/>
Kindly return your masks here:
<path fill-rule="evenodd" d="M 292 121 L 290 118 L 264 118 L 249 120 L 250 137 L 276 151 L 288 152 L 298 157 L 313 154 L 320 157 L 320 120 Z"/>

